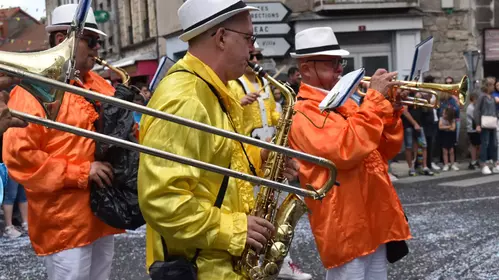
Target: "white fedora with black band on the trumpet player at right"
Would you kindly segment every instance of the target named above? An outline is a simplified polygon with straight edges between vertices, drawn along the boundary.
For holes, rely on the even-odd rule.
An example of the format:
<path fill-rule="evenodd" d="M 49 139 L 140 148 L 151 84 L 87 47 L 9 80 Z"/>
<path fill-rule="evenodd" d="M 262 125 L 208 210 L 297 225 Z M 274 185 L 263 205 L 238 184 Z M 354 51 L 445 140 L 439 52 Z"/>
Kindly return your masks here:
<path fill-rule="evenodd" d="M 295 35 L 296 52 L 293 58 L 316 55 L 345 56 L 350 53 L 342 50 L 331 27 L 314 27 L 305 29 Z"/>

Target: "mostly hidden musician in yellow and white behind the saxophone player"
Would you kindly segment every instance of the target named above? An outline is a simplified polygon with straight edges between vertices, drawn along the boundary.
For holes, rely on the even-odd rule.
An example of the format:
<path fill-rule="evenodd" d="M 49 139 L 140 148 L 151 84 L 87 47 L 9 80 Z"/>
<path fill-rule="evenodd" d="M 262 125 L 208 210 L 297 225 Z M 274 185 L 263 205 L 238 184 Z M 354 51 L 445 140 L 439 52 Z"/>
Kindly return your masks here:
<path fill-rule="evenodd" d="M 250 61 L 259 63 L 263 59 L 262 49 L 256 42 L 254 47 L 254 51 L 250 53 Z M 257 76 L 250 67 L 246 67 L 244 75 L 229 82 L 229 88 L 244 107 L 243 133 L 261 140 L 272 138 L 280 114 L 276 110 L 268 81 Z"/>

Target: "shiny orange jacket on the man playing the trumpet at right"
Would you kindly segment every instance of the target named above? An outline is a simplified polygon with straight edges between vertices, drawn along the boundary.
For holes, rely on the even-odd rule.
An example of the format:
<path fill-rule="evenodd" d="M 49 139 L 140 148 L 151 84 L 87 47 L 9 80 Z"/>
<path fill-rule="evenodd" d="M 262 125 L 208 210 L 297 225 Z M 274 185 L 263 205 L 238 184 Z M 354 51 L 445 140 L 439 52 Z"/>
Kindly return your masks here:
<path fill-rule="evenodd" d="M 326 113 L 319 103 L 326 93 L 302 83 L 295 109 L 321 126 Z M 348 100 L 331 112 L 323 128 L 295 114 L 289 144 L 293 149 L 336 164 L 337 181 L 321 201 L 305 199 L 319 254 L 327 269 L 373 253 L 393 240 L 411 238 L 402 205 L 388 177 L 387 160 L 401 149 L 401 112 L 379 92 L 369 90 L 360 107 Z M 342 116 L 343 115 L 343 116 Z M 300 161 L 302 186 L 322 186 L 327 169 Z"/>

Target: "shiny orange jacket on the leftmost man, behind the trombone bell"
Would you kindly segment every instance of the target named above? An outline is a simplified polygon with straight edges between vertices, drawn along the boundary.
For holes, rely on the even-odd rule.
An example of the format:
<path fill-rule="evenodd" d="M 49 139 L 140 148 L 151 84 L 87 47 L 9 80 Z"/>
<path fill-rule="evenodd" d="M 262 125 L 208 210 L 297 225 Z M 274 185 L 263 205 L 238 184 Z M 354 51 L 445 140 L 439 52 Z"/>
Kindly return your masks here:
<path fill-rule="evenodd" d="M 115 91 L 93 72 L 83 87 L 108 96 Z M 8 106 L 45 117 L 38 101 L 19 86 L 12 90 Z M 84 97 L 66 92 L 56 121 L 95 131 L 98 118 Z M 101 222 L 90 209 L 88 176 L 94 152 L 93 140 L 40 125 L 11 128 L 4 134 L 3 160 L 9 175 L 26 189 L 29 237 L 37 255 L 124 232 Z"/>

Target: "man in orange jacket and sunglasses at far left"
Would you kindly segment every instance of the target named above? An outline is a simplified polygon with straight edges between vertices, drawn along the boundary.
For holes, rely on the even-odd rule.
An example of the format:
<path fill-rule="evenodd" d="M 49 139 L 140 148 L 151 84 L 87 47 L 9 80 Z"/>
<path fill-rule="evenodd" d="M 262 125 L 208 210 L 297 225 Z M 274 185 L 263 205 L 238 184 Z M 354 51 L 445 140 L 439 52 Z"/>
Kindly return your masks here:
<path fill-rule="evenodd" d="M 52 13 L 50 44 L 60 44 L 73 19 L 77 4 L 57 7 Z M 99 35 L 90 9 L 76 52 L 79 80 L 72 81 L 103 95 L 115 89 L 92 72 L 99 49 Z M 45 112 L 21 87 L 11 92 L 9 107 L 38 117 Z M 57 121 L 95 131 L 99 114 L 84 97 L 66 92 Z M 90 208 L 90 185 L 111 185 L 109 163 L 94 159 L 95 142 L 74 134 L 29 124 L 9 129 L 4 135 L 3 159 L 11 175 L 22 184 L 28 198 L 28 227 L 36 254 L 44 256 L 48 278 L 109 278 L 114 254 L 113 235 L 124 232 L 103 223 Z"/>

